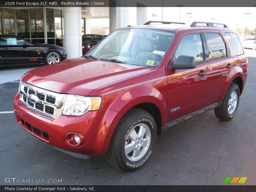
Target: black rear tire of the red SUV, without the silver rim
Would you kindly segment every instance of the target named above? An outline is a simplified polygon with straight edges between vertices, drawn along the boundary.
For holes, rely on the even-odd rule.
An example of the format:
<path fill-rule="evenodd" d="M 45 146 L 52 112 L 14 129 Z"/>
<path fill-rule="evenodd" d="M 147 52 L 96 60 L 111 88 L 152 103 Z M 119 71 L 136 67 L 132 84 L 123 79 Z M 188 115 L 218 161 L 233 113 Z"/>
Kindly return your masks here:
<path fill-rule="evenodd" d="M 228 106 L 229 106 L 228 101 L 230 99 L 231 93 L 234 91 L 237 93 L 237 103 L 236 103 L 236 107 L 234 108 L 234 112 L 231 111 L 232 113 L 230 114 L 228 112 Z M 231 120 L 236 115 L 236 112 L 239 106 L 239 101 L 240 101 L 240 89 L 237 84 L 233 83 L 229 86 L 221 106 L 219 108 L 214 109 L 215 116 L 222 121 Z"/>

